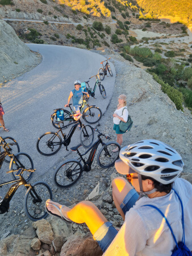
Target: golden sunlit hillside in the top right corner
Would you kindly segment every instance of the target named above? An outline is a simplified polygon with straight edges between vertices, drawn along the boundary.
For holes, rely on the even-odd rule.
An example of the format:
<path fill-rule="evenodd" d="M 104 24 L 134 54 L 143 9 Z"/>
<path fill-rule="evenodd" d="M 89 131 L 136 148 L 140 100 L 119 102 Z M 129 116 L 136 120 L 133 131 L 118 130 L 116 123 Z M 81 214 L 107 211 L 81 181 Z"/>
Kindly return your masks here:
<path fill-rule="evenodd" d="M 158 18 L 171 16 L 172 22 L 192 26 L 192 0 L 137 0 L 137 3 L 143 9 L 143 14 L 157 15 Z"/>

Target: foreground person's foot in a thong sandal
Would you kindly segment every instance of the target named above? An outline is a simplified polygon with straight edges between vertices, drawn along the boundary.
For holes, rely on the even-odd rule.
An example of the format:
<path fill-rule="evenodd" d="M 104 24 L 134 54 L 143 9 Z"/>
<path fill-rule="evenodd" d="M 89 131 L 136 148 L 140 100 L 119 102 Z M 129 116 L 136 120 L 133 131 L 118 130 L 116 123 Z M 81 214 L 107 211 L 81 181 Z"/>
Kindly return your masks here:
<path fill-rule="evenodd" d="M 61 205 L 59 203 L 53 202 L 51 200 L 46 201 L 46 208 L 48 209 L 49 212 L 52 214 L 63 218 L 66 221 L 71 222 L 67 216 L 68 210 L 70 210 L 69 207 L 66 207 L 65 205 Z"/>

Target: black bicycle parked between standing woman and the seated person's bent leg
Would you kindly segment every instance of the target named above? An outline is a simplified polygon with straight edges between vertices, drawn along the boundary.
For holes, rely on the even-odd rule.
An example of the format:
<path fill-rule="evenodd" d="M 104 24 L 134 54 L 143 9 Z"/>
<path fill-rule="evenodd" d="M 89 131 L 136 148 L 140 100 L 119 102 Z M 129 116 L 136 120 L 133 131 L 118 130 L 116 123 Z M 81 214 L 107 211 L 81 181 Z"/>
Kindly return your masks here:
<path fill-rule="evenodd" d="M 72 151 L 77 151 L 77 154 L 80 156 L 80 158 L 77 160 L 66 160 L 57 169 L 54 176 L 54 180 L 57 186 L 61 188 L 68 188 L 76 183 L 78 179 L 80 179 L 83 171 L 89 172 L 91 170 L 91 164 L 93 163 L 95 152 L 97 151 L 99 144 L 102 144 L 102 148 L 99 150 L 97 155 L 97 163 L 99 166 L 102 168 L 109 168 L 114 166 L 115 161 L 119 158 L 120 145 L 115 141 L 108 143 L 103 142 L 101 139 L 102 136 L 106 137 L 107 139 L 111 138 L 105 134 L 100 133 L 100 131 L 97 129 L 95 129 L 95 131 L 98 132 L 98 140 L 84 154 L 81 155 L 80 151 L 78 151 L 78 148 L 81 147 L 81 144 L 71 148 Z M 118 151 L 115 150 L 116 147 L 118 147 Z M 89 154 L 89 158 L 87 160 L 82 158 L 82 156 L 86 155 L 90 150 L 91 152 Z M 81 160 L 84 162 L 83 166 L 81 164 Z"/>

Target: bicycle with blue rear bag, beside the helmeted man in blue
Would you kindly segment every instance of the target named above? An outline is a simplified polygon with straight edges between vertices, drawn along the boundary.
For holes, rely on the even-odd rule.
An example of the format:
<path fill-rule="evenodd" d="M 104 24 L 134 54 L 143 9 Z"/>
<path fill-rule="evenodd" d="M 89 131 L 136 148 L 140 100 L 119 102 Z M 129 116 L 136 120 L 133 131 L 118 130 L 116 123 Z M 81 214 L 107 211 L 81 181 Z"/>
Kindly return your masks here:
<path fill-rule="evenodd" d="M 86 103 L 85 103 L 86 102 Z M 84 104 L 82 104 L 80 111 L 83 114 L 82 118 L 85 120 L 87 123 L 97 123 L 102 117 L 102 111 L 95 105 L 90 106 L 87 101 L 85 101 Z M 65 110 L 63 108 L 60 109 L 54 109 L 54 113 L 51 115 L 51 123 L 52 125 L 56 128 L 59 129 L 59 123 L 60 126 L 65 129 L 67 128 L 71 122 L 74 121 L 73 115 L 74 111 L 71 108 L 72 104 L 69 104 L 70 112 L 68 110 Z M 87 106 L 87 108 L 83 111 L 84 106 Z M 57 119 L 57 111 L 62 111 L 63 112 L 63 120 L 58 121 Z"/>

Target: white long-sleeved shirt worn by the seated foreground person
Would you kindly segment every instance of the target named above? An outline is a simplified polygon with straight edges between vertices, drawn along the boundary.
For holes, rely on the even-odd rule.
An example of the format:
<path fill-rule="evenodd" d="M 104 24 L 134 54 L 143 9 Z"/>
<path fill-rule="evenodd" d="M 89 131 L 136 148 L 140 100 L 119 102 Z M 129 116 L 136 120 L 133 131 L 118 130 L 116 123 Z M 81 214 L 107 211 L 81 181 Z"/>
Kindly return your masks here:
<path fill-rule="evenodd" d="M 185 245 L 192 250 L 192 185 L 183 179 L 176 179 L 173 188 L 183 203 L 185 224 Z M 141 205 L 152 204 L 167 217 L 177 242 L 182 240 L 181 204 L 172 190 L 162 197 L 142 197 L 126 213 L 122 228 L 106 250 L 105 256 L 146 255 L 170 256 L 176 247 L 172 233 L 161 214 L 151 207 Z"/>

